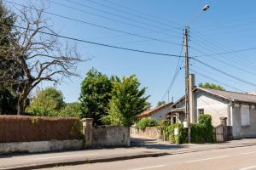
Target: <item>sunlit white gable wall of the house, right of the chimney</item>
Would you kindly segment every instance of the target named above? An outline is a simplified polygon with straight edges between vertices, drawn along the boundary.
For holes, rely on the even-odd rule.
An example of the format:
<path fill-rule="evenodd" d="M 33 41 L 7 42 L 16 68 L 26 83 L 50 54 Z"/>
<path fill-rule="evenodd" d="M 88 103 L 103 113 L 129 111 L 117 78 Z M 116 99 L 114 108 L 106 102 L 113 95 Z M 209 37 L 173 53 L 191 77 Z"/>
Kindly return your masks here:
<path fill-rule="evenodd" d="M 220 124 L 220 117 L 228 117 L 229 101 L 212 94 L 199 91 L 195 94 L 195 116 L 199 116 L 199 109 L 204 109 L 204 114 L 212 116 L 214 127 Z M 195 119 L 197 122 L 197 119 Z"/>

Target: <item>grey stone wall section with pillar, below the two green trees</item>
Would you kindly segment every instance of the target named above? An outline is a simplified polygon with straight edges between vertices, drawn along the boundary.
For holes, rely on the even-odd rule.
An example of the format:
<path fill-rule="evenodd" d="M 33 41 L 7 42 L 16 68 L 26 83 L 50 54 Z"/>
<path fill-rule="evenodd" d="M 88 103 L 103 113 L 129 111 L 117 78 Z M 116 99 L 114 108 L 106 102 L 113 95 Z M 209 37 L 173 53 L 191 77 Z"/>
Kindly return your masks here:
<path fill-rule="evenodd" d="M 92 126 L 92 119 L 83 119 L 85 148 L 130 146 L 130 127 Z"/>

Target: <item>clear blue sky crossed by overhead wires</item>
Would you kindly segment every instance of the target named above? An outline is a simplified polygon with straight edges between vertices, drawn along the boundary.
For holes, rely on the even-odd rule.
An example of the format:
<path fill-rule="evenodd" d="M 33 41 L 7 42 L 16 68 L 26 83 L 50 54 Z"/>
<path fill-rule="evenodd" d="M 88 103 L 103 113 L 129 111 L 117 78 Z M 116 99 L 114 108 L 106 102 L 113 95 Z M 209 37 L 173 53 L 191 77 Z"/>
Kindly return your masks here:
<path fill-rule="evenodd" d="M 63 3 L 79 10 L 67 8 L 56 3 L 50 3 L 49 12 L 121 31 L 129 31 L 146 37 L 175 42 L 177 44 L 183 41 L 183 26 L 198 14 L 201 8 L 207 3 L 210 5 L 210 9 L 206 13 L 201 14 L 201 16 L 195 20 L 195 23 L 190 26 L 190 56 L 215 54 L 229 50 L 256 47 L 256 1 L 253 0 L 51 1 Z M 84 3 L 84 5 L 90 8 L 74 4 L 72 1 Z M 21 0 L 14 0 L 13 2 L 26 3 L 26 1 Z M 49 3 L 49 1 L 45 2 Z M 125 8 L 117 6 L 115 3 Z M 114 8 L 118 8 L 119 10 Z M 111 14 L 103 13 L 100 10 Z M 125 13 L 123 11 L 125 11 Z M 95 14 L 97 14 L 97 16 Z M 61 35 L 77 37 L 93 42 L 114 44 L 125 48 L 137 48 L 166 54 L 179 54 L 181 50 L 181 46 L 179 45 L 147 40 L 142 37 L 133 37 L 131 35 L 108 31 L 51 15 L 49 15 L 49 17 L 54 21 L 55 31 L 60 32 Z M 119 22 L 113 20 L 119 20 Z M 129 26 L 124 24 L 124 22 L 129 24 Z M 172 26 L 177 27 L 177 29 Z M 166 93 L 166 89 L 170 82 L 172 82 L 178 61 L 177 58 L 172 57 L 127 52 L 81 42 L 78 42 L 78 48 L 84 59 L 93 57 L 90 61 L 79 64 L 78 72 L 83 78 L 85 73 L 92 67 L 108 76 L 117 75 L 119 77 L 128 77 L 131 74 L 136 74 L 142 86 L 148 87 L 147 94 L 151 96 L 148 101 L 152 105 L 155 105 Z M 252 50 L 237 54 L 217 55 L 214 56 L 216 59 L 212 59 L 211 57 L 201 57 L 198 59 L 219 70 L 256 84 L 255 54 L 256 50 Z M 219 82 L 224 82 L 234 88 L 239 88 L 243 91 L 252 91 L 256 88 L 238 82 L 230 77 L 226 77 L 193 60 L 191 60 L 190 64 L 194 71 L 212 77 Z M 61 83 L 61 85 L 57 87 L 61 89 L 67 102 L 78 100 L 80 83 L 83 78 L 73 77 L 71 81 L 66 80 L 66 82 Z M 214 82 L 206 77 L 201 77 L 201 75 L 196 75 L 195 79 L 197 83 Z M 170 99 L 172 96 L 174 96 L 174 99 L 178 99 L 184 94 L 183 82 L 183 70 L 181 70 L 170 91 Z M 49 86 L 49 83 L 43 83 L 42 87 L 46 86 Z M 223 86 L 228 90 L 234 90 L 226 85 Z M 167 95 L 164 99 L 167 100 Z"/>

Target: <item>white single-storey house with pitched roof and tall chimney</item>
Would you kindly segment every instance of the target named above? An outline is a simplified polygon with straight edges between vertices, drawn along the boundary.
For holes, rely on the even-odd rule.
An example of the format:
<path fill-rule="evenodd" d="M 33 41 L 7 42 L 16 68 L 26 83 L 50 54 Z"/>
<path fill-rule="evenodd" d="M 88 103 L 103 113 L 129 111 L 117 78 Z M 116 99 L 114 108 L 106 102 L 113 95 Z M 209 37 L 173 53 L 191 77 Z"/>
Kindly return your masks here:
<path fill-rule="evenodd" d="M 190 75 L 190 122 L 197 122 L 201 114 L 209 114 L 212 125 L 218 126 L 220 118 L 225 117 L 233 138 L 256 137 L 256 95 L 196 88 L 194 82 L 194 75 Z M 167 116 L 172 123 L 184 122 L 184 97 L 171 106 Z"/>

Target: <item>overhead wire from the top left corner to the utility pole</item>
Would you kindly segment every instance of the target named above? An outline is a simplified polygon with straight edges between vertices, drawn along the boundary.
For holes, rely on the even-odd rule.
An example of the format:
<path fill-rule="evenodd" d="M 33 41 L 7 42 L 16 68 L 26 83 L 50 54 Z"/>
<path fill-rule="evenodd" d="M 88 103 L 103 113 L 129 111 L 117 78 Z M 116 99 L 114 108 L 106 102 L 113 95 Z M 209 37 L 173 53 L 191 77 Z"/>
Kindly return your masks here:
<path fill-rule="evenodd" d="M 7 2 L 7 3 L 12 3 L 12 2 L 9 2 L 7 0 L 3 0 L 3 1 Z M 22 5 L 22 4 L 19 4 L 19 3 L 13 3 L 13 4 L 22 6 L 24 8 L 31 8 L 31 9 L 34 9 L 34 10 L 42 12 L 42 10 L 40 10 L 38 8 L 28 7 L 26 5 Z M 90 22 L 87 22 L 87 21 L 84 21 L 84 20 L 77 20 L 77 19 L 74 19 L 74 18 L 71 18 L 71 17 L 68 17 L 68 16 L 60 15 L 60 14 L 54 14 L 54 13 L 50 13 L 50 12 L 47 12 L 47 11 L 43 11 L 43 12 L 45 14 L 51 14 L 51 15 L 54 15 L 54 16 L 57 16 L 57 17 L 60 17 L 60 18 L 63 18 L 63 19 L 73 20 L 73 21 L 76 21 L 76 22 L 79 22 L 79 23 L 83 23 L 83 24 L 86 24 L 86 25 L 96 26 L 96 27 L 99 27 L 99 28 L 102 28 L 102 29 L 106 29 L 106 30 L 109 30 L 109 31 L 116 31 L 116 32 L 119 32 L 119 33 L 124 33 L 124 34 L 127 34 L 127 35 L 131 35 L 131 36 L 134 36 L 134 37 L 141 37 L 141 38 L 144 38 L 144 39 L 154 40 L 154 41 L 157 41 L 157 42 L 166 42 L 166 43 L 169 43 L 169 44 L 172 44 L 172 45 L 178 45 L 178 46 L 182 45 L 182 44 L 178 44 L 176 42 L 168 42 L 168 41 L 160 40 L 160 39 L 154 38 L 154 37 L 146 37 L 146 36 L 138 35 L 138 34 L 135 34 L 135 33 L 128 32 L 128 31 L 121 31 L 121 30 L 118 30 L 118 29 L 109 28 L 107 26 L 96 25 L 96 24 L 93 24 L 93 23 L 90 23 Z"/>

